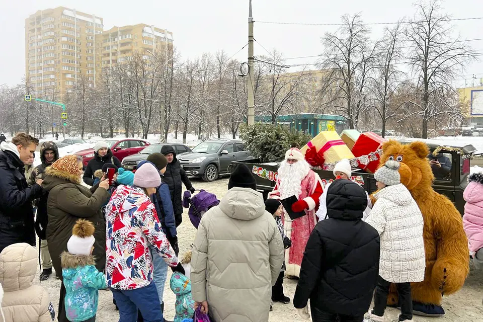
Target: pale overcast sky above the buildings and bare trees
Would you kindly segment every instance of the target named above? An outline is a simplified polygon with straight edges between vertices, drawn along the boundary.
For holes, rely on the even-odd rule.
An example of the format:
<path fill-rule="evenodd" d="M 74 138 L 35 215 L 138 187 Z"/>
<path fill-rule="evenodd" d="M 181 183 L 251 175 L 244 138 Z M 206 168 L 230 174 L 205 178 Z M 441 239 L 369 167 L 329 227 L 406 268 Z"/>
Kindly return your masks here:
<path fill-rule="evenodd" d="M 344 14 L 361 13 L 364 22 L 394 22 L 415 13 L 413 0 L 253 0 L 255 23 L 255 55 L 267 54 L 264 48 L 276 48 L 284 57 L 320 54 L 320 37 L 334 32 L 333 26 L 270 25 L 257 21 L 340 23 Z M 0 50 L 0 85 L 14 85 L 25 75 L 25 19 L 37 10 L 64 6 L 104 19 L 104 29 L 113 26 L 145 23 L 173 32 L 174 42 L 184 58 L 223 49 L 229 56 L 248 42 L 249 0 L 2 0 L 0 30 L 3 30 Z M 483 16 L 483 1 L 448 0 L 444 10 L 452 18 Z M 455 22 L 462 39 L 483 38 L 483 20 Z M 383 26 L 372 28 L 373 37 L 382 34 Z M 483 53 L 483 41 L 470 43 Z M 234 56 L 247 60 L 247 48 Z M 311 59 L 291 59 L 287 64 L 313 63 Z M 469 65 L 461 73 L 471 84 L 472 74 L 483 77 L 483 63 Z M 460 81 L 464 84 L 464 81 Z"/>

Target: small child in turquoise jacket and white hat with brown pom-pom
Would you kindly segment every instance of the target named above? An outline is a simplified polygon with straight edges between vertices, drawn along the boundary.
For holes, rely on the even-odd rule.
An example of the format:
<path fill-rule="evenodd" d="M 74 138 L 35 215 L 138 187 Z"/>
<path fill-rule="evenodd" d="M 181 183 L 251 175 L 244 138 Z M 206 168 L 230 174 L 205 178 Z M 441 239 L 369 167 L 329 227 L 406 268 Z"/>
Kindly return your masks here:
<path fill-rule="evenodd" d="M 68 252 L 60 258 L 65 286 L 65 314 L 71 322 L 96 320 L 99 289 L 107 287 L 106 277 L 96 269 L 94 250 L 94 225 L 79 219 L 72 228 L 67 242 Z"/>

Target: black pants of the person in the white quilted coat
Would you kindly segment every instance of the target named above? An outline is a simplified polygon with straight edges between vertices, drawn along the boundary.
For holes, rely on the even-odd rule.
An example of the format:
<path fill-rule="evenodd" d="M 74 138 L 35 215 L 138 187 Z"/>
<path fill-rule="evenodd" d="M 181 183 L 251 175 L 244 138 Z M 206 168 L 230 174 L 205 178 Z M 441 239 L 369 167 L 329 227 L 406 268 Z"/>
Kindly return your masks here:
<path fill-rule="evenodd" d="M 372 313 L 383 316 L 387 305 L 387 295 L 389 294 L 390 282 L 379 276 L 376 291 L 374 292 L 374 309 Z M 401 315 L 399 321 L 410 320 L 413 318 L 413 301 L 411 299 L 411 283 L 396 283 L 397 293 L 399 294 L 399 305 Z"/>

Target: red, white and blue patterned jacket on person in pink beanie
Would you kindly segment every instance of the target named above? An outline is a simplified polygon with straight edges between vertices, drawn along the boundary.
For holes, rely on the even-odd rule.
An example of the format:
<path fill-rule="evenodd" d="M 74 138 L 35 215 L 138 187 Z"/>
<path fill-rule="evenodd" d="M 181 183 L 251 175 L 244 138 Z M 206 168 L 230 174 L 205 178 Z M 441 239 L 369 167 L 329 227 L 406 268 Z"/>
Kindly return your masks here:
<path fill-rule="evenodd" d="M 175 255 L 149 197 L 140 188 L 120 185 L 106 206 L 106 276 L 109 287 L 131 290 L 152 281 L 152 245 L 171 267 Z"/>

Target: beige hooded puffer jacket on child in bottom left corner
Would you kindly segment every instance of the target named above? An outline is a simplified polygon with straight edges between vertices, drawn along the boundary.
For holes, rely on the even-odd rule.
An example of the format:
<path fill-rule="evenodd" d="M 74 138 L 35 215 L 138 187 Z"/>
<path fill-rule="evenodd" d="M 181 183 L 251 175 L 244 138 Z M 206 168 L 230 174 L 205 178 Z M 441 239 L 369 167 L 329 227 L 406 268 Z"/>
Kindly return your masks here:
<path fill-rule="evenodd" d="M 43 287 L 32 285 L 36 272 L 37 256 L 32 246 L 13 244 L 0 253 L 6 322 L 52 322 L 49 294 Z"/>

